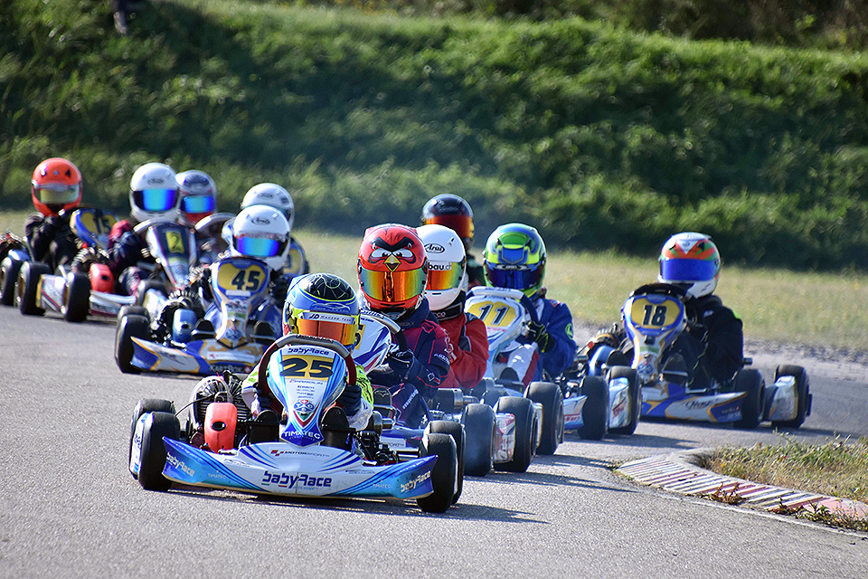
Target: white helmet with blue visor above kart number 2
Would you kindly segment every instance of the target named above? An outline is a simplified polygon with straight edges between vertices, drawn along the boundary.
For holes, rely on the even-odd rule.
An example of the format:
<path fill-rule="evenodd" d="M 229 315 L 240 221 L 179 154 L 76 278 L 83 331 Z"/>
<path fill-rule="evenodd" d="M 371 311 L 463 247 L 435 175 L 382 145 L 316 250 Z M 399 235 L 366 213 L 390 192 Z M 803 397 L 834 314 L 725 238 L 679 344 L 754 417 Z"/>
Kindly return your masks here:
<path fill-rule="evenodd" d="M 138 221 L 178 217 L 178 183 L 175 171 L 162 163 L 140 166 L 129 180 L 129 213 Z"/>

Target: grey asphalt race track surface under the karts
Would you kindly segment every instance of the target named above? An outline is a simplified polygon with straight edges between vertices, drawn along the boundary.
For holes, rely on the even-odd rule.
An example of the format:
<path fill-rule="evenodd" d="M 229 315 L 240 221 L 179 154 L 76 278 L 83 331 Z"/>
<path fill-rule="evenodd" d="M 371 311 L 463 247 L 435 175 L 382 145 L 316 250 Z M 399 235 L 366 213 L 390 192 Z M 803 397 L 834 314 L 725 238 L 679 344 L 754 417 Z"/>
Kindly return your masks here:
<path fill-rule="evenodd" d="M 114 327 L 0 308 L 2 577 L 860 577 L 868 536 L 639 487 L 614 461 L 778 440 L 641 422 L 632 437 L 580 441 L 522 475 L 467 479 L 445 515 L 375 500 L 270 500 L 147 492 L 127 472 L 140 398 L 186 402 L 191 378 L 122 375 Z M 868 435 L 863 365 L 807 366 L 814 413 L 800 437 Z M 772 359 L 775 357 L 775 359 Z"/>

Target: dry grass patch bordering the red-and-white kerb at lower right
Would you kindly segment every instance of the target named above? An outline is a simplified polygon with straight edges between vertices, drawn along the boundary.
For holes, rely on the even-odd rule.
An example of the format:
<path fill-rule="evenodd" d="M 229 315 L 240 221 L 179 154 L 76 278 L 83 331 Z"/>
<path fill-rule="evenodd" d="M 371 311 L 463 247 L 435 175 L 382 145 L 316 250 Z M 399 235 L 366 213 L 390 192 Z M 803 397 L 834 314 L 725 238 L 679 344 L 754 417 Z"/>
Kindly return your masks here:
<path fill-rule="evenodd" d="M 868 438 L 835 438 L 806 444 L 782 435 L 783 443 L 716 451 L 703 465 L 709 470 L 761 484 L 868 502 Z M 735 495 L 736 493 L 731 493 Z M 730 494 L 710 498 L 734 503 Z M 868 531 L 868 520 L 840 515 L 828 508 L 781 509 L 779 512 L 835 527 Z"/>

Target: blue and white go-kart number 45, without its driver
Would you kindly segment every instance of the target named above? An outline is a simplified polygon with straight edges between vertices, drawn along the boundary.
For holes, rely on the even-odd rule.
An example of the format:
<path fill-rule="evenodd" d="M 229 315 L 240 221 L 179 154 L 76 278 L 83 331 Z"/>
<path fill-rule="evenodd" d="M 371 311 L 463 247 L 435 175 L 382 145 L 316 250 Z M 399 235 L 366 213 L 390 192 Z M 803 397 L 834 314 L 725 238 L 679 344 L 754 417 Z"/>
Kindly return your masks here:
<path fill-rule="evenodd" d="M 121 372 L 212 375 L 253 369 L 274 341 L 274 328 L 281 327 L 269 295 L 269 268 L 258 260 L 226 257 L 210 271 L 213 303 L 207 311 L 199 294 L 189 291 L 166 299 L 153 318 L 146 308 L 123 309 L 115 335 Z"/>

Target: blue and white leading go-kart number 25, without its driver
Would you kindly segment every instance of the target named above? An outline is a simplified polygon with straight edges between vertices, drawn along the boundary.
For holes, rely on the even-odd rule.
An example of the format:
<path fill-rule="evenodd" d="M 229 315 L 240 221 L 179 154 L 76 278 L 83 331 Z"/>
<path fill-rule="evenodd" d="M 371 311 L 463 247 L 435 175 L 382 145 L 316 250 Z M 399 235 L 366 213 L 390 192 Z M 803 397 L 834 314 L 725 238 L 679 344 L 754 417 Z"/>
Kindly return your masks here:
<path fill-rule="evenodd" d="M 133 413 L 129 471 L 145 489 L 180 483 L 259 495 L 414 498 L 424 511 L 445 512 L 458 493 L 455 441 L 429 429 L 416 456 L 402 460 L 382 444 L 389 421 L 379 413 L 362 432 L 346 428 L 343 411 L 331 406 L 355 380 L 354 360 L 338 342 L 281 337 L 259 364 L 259 384 L 284 409 L 279 423 L 240 417 L 235 395 L 224 391 L 203 404 L 201 430 L 188 423 L 182 433 L 173 403 L 143 400 Z"/>

